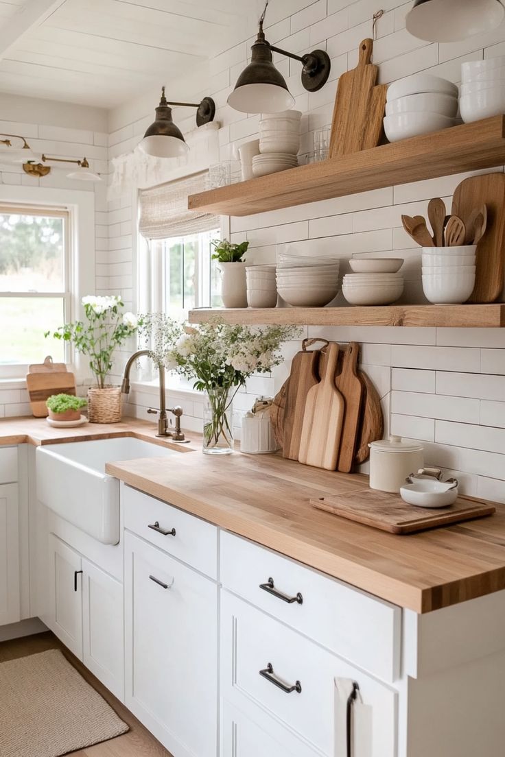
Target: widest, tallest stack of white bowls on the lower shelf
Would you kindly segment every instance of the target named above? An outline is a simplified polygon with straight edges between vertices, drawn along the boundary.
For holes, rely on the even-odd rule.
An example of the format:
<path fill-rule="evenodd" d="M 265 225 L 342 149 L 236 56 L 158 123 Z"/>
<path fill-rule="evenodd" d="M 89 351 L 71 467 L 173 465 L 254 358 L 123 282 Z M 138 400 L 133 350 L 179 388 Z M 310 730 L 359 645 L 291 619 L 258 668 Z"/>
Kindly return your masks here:
<path fill-rule="evenodd" d="M 340 261 L 279 253 L 277 291 L 293 307 L 324 307 L 338 294 Z"/>

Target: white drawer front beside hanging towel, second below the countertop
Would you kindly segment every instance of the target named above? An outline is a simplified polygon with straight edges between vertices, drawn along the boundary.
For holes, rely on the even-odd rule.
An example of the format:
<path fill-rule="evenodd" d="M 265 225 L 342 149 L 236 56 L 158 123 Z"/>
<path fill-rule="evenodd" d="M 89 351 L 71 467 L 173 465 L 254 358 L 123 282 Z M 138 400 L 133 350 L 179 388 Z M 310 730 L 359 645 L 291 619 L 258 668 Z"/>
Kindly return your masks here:
<path fill-rule="evenodd" d="M 221 596 L 224 699 L 239 707 L 242 703 L 242 709 L 254 702 L 332 757 L 336 744 L 345 749 L 347 738 L 341 709 L 337 722 L 343 725 L 335 728 L 335 679 L 356 681 L 368 718 L 360 725 L 366 733 L 355 734 L 366 743 L 360 757 L 394 757 L 397 694 L 393 690 L 238 597 L 227 591 Z M 288 693 L 260 675 L 269 664 L 276 681 L 285 687 L 298 685 L 299 690 Z M 356 721 L 354 726 L 358 727 Z"/>

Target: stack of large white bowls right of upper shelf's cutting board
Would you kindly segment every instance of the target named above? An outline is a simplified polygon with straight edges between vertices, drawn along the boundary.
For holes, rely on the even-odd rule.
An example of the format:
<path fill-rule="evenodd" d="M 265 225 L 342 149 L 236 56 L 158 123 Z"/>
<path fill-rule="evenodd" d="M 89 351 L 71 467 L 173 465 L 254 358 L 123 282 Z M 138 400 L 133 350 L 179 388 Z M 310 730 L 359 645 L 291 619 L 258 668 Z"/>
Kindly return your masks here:
<path fill-rule="evenodd" d="M 457 95 L 455 84 L 429 73 L 414 73 L 392 83 L 384 119 L 389 142 L 454 126 Z"/>

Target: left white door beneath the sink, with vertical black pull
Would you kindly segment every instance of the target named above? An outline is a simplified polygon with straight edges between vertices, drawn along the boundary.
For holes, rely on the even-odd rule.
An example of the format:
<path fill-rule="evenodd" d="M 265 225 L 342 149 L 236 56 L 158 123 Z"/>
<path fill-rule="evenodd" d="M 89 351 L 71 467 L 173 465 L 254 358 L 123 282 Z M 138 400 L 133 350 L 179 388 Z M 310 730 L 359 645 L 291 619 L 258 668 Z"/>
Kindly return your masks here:
<path fill-rule="evenodd" d="M 70 652 L 83 659 L 82 559 L 49 534 L 49 612 L 46 620 Z"/>

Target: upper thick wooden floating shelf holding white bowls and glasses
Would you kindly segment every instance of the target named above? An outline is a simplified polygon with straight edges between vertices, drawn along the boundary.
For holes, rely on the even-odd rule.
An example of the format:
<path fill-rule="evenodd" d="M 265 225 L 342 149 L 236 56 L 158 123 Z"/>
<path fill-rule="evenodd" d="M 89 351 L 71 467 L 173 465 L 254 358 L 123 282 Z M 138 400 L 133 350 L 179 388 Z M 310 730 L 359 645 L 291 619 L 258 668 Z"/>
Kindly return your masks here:
<path fill-rule="evenodd" d="M 188 198 L 189 210 L 249 216 L 505 163 L 505 116 L 291 168 Z"/>

